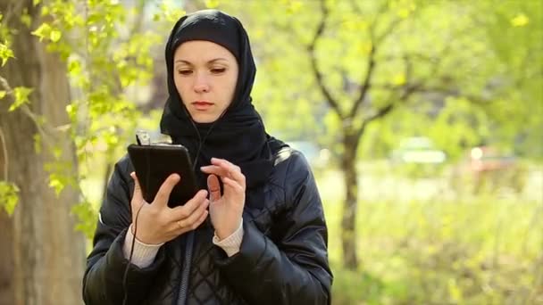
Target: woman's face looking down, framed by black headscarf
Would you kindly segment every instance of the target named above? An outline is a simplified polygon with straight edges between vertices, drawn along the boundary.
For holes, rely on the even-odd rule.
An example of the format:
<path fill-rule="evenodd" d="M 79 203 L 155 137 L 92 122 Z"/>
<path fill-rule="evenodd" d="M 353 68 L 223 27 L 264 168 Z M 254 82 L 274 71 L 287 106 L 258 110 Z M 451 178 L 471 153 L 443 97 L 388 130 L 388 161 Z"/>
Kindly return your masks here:
<path fill-rule="evenodd" d="M 187 41 L 173 55 L 173 80 L 192 120 L 211 123 L 232 102 L 238 62 L 221 45 L 204 40 Z"/>

